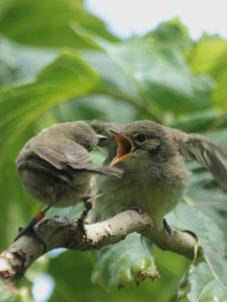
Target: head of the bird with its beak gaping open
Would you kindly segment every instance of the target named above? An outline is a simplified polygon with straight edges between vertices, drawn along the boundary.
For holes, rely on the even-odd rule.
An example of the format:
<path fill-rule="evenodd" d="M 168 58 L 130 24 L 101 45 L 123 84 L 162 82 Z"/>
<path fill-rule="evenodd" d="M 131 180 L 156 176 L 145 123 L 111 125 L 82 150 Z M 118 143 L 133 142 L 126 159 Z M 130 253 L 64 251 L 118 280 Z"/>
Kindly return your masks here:
<path fill-rule="evenodd" d="M 134 121 L 122 131 L 109 129 L 118 141 L 118 154 L 111 166 L 131 159 L 149 158 L 153 163 L 162 163 L 177 154 L 177 144 L 168 128 L 152 121 Z"/>

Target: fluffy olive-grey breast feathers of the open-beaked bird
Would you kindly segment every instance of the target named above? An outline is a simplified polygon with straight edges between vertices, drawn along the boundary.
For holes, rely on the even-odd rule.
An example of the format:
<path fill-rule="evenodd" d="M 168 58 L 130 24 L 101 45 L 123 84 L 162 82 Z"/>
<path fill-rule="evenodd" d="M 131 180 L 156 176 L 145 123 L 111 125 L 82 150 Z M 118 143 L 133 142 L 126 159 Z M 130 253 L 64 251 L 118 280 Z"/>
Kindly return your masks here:
<path fill-rule="evenodd" d="M 142 167 L 143 163 L 122 164 L 125 166 L 122 178 L 100 176 L 100 198 L 96 207 L 102 207 L 100 213 L 105 218 L 125 207 L 137 206 L 159 223 L 182 200 L 190 175 L 184 164 L 180 165 L 181 169 L 175 169 L 175 165 L 171 164 L 170 168 L 166 163 L 166 167 L 162 164 L 160 169 L 155 165 Z"/>

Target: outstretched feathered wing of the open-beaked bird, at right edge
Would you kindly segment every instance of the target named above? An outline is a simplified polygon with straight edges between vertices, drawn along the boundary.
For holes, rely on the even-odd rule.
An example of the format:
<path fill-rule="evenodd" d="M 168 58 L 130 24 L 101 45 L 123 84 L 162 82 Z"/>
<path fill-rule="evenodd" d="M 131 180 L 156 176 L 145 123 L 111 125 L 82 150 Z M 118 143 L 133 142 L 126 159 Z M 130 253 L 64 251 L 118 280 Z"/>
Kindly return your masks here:
<path fill-rule="evenodd" d="M 227 151 L 201 135 L 187 135 L 179 141 L 180 153 L 206 167 L 223 189 L 227 189 Z"/>

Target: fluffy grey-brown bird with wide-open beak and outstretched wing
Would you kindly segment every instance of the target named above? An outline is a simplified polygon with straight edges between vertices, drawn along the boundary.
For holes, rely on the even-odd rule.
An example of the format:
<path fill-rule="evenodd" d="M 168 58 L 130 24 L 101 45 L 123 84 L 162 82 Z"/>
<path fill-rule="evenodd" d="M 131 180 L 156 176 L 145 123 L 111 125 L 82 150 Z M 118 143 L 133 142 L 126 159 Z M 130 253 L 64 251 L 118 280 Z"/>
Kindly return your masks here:
<path fill-rule="evenodd" d="M 160 228 L 164 216 L 184 196 L 190 172 L 180 153 L 208 168 L 217 183 L 227 189 L 226 150 L 201 135 L 155 124 L 135 121 L 120 131 L 109 129 L 118 141 L 118 153 L 110 165 L 120 167 L 120 179 L 98 177 L 98 198 L 91 221 L 104 220 L 127 207 L 144 209 Z M 168 225 L 165 223 L 168 231 Z"/>

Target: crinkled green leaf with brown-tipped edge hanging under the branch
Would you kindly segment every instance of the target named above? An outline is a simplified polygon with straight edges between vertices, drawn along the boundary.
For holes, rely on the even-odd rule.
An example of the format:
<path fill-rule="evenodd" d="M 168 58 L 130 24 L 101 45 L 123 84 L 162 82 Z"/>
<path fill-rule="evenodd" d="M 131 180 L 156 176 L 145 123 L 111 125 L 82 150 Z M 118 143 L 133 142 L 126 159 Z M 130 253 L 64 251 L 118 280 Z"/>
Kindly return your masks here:
<path fill-rule="evenodd" d="M 138 286 L 146 277 L 159 277 L 151 242 L 147 244 L 142 244 L 140 235 L 133 233 L 124 241 L 97 251 L 94 254 L 92 283 L 102 286 L 107 292 L 113 292 Z"/>

